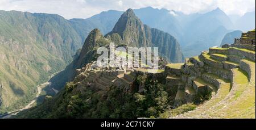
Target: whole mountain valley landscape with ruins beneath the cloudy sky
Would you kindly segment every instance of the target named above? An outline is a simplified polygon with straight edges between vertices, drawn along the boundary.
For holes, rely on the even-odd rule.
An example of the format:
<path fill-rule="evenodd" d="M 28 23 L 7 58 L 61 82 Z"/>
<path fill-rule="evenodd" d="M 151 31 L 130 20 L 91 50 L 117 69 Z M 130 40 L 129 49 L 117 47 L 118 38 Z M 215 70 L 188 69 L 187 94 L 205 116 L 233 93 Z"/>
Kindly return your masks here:
<path fill-rule="evenodd" d="M 255 11 L 0 10 L 0 118 L 255 118 Z"/>

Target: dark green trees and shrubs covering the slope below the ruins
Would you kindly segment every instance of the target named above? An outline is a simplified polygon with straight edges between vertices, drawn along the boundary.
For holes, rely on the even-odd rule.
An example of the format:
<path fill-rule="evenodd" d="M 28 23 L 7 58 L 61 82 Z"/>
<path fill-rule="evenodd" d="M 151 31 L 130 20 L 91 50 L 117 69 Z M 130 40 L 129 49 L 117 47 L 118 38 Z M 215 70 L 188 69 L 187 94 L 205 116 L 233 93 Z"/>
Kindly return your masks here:
<path fill-rule="evenodd" d="M 171 108 L 174 97 L 153 77 L 138 76 L 135 86 L 131 93 L 125 93 L 125 86 L 112 86 L 101 93 L 69 82 L 57 97 L 18 118 L 153 118 Z M 142 93 L 138 93 L 139 86 L 143 86 Z"/>

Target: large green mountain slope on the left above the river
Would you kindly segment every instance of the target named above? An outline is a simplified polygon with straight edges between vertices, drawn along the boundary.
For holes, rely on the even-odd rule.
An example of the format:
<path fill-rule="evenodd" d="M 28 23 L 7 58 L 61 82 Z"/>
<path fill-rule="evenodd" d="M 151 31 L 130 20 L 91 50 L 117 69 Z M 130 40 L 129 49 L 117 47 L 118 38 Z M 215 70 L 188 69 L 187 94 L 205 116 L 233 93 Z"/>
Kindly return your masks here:
<path fill-rule="evenodd" d="M 32 100 L 35 86 L 71 62 L 81 43 L 59 15 L 0 11 L 0 111 Z"/>

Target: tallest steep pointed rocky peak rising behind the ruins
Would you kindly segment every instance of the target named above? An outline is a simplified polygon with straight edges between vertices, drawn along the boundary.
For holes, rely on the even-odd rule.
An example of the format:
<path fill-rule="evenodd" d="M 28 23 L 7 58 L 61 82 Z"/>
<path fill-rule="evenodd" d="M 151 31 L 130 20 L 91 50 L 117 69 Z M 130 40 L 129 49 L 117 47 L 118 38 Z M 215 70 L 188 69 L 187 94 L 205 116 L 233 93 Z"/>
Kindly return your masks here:
<path fill-rule="evenodd" d="M 106 36 L 118 37 L 117 34 L 121 37 L 121 42 L 128 46 L 158 47 L 159 53 L 171 62 L 183 62 L 184 60 L 181 47 L 175 37 L 144 25 L 131 9 L 123 13 L 113 30 Z"/>

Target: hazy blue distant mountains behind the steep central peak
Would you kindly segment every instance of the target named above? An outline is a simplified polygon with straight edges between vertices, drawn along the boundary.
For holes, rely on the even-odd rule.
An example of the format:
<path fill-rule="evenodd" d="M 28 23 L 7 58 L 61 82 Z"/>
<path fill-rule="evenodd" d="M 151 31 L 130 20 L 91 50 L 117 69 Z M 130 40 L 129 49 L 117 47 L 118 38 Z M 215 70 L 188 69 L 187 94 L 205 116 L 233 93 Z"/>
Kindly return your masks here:
<path fill-rule="evenodd" d="M 246 13 L 242 17 L 235 16 L 236 18 L 234 16 L 229 17 L 219 8 L 205 14 L 189 15 L 152 7 L 137 9 L 134 12 L 144 24 L 174 36 L 179 41 L 185 57 L 196 56 L 209 47 L 220 45 L 223 37 L 228 32 L 234 30 L 248 31 L 255 28 L 255 20 L 253 20 L 255 19 L 255 11 Z M 121 14 L 122 11 L 110 10 L 88 19 L 71 19 L 71 21 L 80 21 L 80 24 L 86 25 L 93 23 L 91 29 L 97 27 L 106 34 L 112 30 L 114 23 L 117 22 Z M 85 28 L 81 30 L 85 30 Z M 85 33 L 86 31 L 81 32 Z M 85 34 L 88 34 L 88 32 Z"/>

